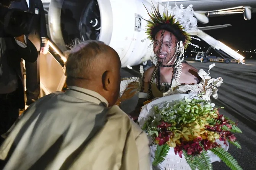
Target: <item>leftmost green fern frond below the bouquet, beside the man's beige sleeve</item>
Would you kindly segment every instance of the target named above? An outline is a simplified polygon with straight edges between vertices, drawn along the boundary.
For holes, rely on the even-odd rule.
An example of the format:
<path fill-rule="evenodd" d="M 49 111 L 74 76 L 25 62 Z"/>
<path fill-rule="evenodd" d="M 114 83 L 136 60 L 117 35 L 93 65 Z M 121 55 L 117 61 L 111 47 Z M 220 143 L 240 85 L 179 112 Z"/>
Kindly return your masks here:
<path fill-rule="evenodd" d="M 168 146 L 167 144 L 161 145 L 161 146 L 157 145 L 156 152 L 155 152 L 155 159 L 152 165 L 157 166 L 158 164 L 162 163 L 165 160 L 169 150 L 170 150 L 170 146 Z"/>

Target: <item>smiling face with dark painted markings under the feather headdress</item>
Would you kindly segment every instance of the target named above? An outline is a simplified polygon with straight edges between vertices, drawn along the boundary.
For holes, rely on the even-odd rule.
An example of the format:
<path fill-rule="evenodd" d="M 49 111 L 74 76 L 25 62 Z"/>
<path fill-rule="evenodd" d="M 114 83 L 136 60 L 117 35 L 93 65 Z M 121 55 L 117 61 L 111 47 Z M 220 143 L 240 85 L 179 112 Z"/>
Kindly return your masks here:
<path fill-rule="evenodd" d="M 167 64 L 172 59 L 177 43 L 178 40 L 173 33 L 166 30 L 157 32 L 153 50 L 160 63 Z"/>

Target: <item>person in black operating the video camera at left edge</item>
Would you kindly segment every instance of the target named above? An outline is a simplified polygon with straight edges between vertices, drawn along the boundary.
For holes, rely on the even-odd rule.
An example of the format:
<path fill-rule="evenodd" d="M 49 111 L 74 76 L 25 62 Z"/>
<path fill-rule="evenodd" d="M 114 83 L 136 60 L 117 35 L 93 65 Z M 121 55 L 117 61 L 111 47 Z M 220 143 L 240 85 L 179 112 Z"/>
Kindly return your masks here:
<path fill-rule="evenodd" d="M 6 4 L 0 5 L 8 8 Z M 37 56 L 36 47 L 25 35 L 0 37 L 0 136 L 16 121 L 19 109 L 24 108 L 22 60 L 35 62 Z M 0 143 L 2 141 L 0 137 Z"/>

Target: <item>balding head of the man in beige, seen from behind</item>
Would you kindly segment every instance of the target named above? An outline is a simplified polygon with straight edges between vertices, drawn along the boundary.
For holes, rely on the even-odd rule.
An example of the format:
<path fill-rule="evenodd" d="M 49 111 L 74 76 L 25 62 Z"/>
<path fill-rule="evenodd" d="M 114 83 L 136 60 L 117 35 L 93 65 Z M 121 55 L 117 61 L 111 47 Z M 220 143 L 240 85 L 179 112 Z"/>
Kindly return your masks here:
<path fill-rule="evenodd" d="M 94 40 L 79 43 L 67 53 L 68 86 L 78 86 L 98 92 L 112 106 L 120 91 L 121 62 L 110 46 Z"/>

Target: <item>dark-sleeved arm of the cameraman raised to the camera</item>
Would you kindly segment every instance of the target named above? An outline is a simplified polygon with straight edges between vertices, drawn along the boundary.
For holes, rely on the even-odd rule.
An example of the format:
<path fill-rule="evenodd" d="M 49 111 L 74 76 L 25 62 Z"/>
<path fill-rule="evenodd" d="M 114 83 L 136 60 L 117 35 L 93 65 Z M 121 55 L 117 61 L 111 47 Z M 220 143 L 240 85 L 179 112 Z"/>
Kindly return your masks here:
<path fill-rule="evenodd" d="M 35 62 L 37 60 L 37 49 L 25 35 L 15 37 L 15 41 L 18 44 L 16 47 L 21 58 L 27 62 Z"/>

